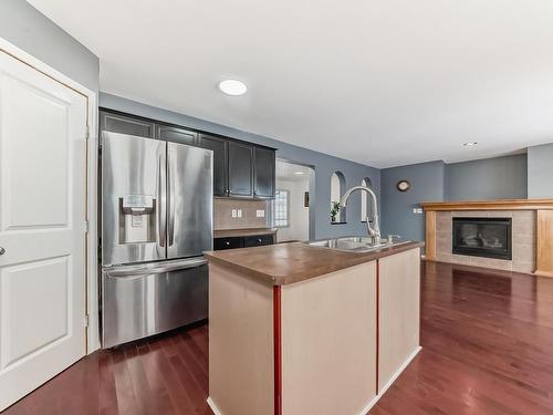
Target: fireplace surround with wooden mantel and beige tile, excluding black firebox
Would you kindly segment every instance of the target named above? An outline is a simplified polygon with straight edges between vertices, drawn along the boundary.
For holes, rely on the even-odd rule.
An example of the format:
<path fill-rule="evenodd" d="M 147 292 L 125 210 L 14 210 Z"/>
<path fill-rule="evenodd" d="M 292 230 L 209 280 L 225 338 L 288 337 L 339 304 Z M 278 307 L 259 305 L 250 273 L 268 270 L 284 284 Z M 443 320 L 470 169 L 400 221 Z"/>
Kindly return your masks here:
<path fill-rule="evenodd" d="M 553 199 L 421 203 L 426 260 L 553 277 Z M 452 218 L 512 218 L 512 260 L 452 253 Z"/>

